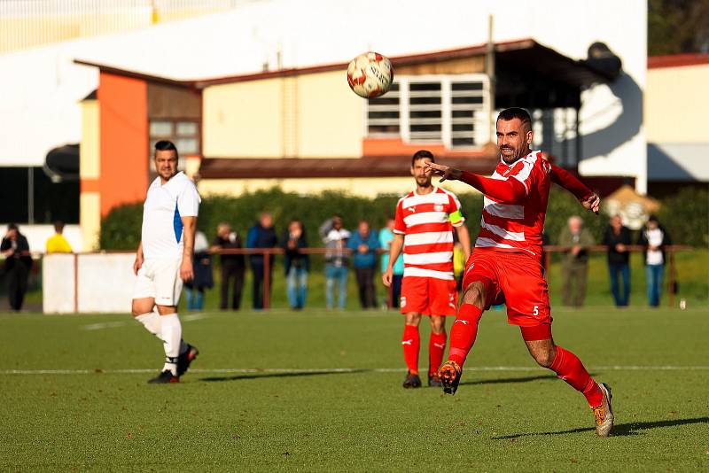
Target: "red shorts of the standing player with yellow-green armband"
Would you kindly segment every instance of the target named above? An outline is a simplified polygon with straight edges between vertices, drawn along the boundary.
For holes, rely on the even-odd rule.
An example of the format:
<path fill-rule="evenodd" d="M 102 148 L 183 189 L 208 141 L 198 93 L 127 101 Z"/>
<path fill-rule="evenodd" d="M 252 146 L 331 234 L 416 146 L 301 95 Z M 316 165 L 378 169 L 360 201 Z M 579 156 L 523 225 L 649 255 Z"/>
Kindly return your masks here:
<path fill-rule="evenodd" d="M 401 282 L 401 314 L 456 315 L 456 281 L 435 277 L 405 276 Z"/>

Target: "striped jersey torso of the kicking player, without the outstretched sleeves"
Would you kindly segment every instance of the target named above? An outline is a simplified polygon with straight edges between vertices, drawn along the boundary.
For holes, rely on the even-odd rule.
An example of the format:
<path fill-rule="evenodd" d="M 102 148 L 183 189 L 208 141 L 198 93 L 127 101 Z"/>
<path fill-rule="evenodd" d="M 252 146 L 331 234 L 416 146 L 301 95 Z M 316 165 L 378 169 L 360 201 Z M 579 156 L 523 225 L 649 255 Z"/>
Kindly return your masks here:
<path fill-rule="evenodd" d="M 532 151 L 508 165 L 495 167 L 493 179 L 517 179 L 526 188 L 518 202 L 502 202 L 485 196 L 476 248 L 503 252 L 527 252 L 541 257 L 541 234 L 547 214 L 551 165 L 540 151 Z"/>

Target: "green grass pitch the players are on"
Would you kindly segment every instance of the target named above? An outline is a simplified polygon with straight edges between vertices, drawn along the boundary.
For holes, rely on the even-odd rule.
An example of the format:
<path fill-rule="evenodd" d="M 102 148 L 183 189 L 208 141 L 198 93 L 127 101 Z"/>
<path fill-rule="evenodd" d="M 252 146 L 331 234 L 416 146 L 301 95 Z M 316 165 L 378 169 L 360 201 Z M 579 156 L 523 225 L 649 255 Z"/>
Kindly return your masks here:
<path fill-rule="evenodd" d="M 557 343 L 611 384 L 583 397 L 483 317 L 455 397 L 401 389 L 401 316 L 206 313 L 180 384 L 129 315 L 0 315 L 0 469 L 706 470 L 709 311 L 555 310 Z M 422 330 L 421 367 L 428 328 Z"/>

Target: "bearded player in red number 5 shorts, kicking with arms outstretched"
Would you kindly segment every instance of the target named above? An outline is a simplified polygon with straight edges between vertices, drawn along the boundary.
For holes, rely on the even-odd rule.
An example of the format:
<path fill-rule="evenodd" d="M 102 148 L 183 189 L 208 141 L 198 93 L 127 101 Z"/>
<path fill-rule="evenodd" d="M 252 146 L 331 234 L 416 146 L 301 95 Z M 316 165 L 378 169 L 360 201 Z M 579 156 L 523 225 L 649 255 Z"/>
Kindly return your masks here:
<path fill-rule="evenodd" d="M 464 296 L 450 333 L 448 361 L 439 370 L 443 392 L 454 394 L 465 358 L 475 343 L 478 322 L 491 305 L 505 303 L 510 324 L 518 325 L 535 361 L 583 393 L 596 417 L 596 434 L 613 427 L 611 388 L 598 384 L 576 355 L 551 337 L 549 291 L 542 275 L 541 232 L 551 182 L 570 190 L 597 213 L 600 200 L 578 179 L 532 151 L 532 120 L 521 108 L 497 117 L 501 161 L 492 177 L 427 163 L 441 181 L 457 179 L 485 194 L 480 233 L 464 273 Z"/>

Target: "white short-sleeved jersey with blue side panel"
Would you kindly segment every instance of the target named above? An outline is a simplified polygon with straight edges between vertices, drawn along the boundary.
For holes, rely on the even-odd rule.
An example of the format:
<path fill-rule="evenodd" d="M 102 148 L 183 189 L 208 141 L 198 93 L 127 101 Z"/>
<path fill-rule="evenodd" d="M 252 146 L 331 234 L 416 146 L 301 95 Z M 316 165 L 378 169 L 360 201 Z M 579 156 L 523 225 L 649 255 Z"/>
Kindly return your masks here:
<path fill-rule="evenodd" d="M 199 213 L 199 192 L 183 172 L 165 184 L 156 177 L 143 205 L 143 255 L 148 258 L 180 259 L 183 255 L 182 217 Z"/>

